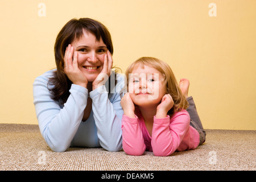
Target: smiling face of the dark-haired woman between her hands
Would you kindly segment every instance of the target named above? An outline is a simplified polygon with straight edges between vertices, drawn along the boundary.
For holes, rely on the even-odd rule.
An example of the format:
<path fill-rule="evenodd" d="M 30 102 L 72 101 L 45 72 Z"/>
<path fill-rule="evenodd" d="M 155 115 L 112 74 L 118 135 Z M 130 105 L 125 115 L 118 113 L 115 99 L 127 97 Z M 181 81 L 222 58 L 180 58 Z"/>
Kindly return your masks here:
<path fill-rule="evenodd" d="M 96 36 L 84 31 L 79 40 L 74 40 L 71 45 L 78 52 L 77 62 L 80 70 L 89 82 L 93 82 L 100 74 L 104 65 L 104 55 L 108 48 L 103 40 L 96 40 Z"/>

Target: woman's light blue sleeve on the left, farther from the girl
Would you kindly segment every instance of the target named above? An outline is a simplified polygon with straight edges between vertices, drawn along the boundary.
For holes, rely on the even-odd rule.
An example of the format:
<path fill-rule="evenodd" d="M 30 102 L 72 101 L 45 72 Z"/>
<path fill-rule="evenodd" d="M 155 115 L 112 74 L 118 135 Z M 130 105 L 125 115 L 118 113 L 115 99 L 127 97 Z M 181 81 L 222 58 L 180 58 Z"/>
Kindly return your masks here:
<path fill-rule="evenodd" d="M 33 84 L 34 105 L 39 129 L 53 151 L 63 152 L 70 146 L 79 128 L 86 107 L 88 90 L 72 84 L 64 107 L 52 100 L 48 90 L 48 79 L 40 76 Z"/>

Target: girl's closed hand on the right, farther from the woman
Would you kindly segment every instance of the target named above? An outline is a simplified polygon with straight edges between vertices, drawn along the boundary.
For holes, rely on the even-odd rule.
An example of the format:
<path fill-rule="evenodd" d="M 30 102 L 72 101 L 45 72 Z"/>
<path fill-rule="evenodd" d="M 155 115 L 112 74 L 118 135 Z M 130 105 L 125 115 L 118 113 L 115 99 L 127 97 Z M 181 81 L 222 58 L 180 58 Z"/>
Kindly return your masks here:
<path fill-rule="evenodd" d="M 165 94 L 161 103 L 156 108 L 156 118 L 167 117 L 168 111 L 174 106 L 174 100 L 170 94 Z"/>

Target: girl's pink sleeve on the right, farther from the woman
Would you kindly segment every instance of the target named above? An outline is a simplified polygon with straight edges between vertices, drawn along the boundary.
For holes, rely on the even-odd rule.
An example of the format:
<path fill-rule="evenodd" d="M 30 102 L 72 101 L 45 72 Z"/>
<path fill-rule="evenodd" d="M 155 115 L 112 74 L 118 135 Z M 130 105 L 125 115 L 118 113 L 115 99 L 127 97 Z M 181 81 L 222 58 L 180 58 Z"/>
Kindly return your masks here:
<path fill-rule="evenodd" d="M 190 117 L 187 111 L 179 111 L 166 118 L 154 117 L 152 129 L 152 150 L 156 156 L 168 156 L 174 153 L 183 140 L 188 127 Z"/>

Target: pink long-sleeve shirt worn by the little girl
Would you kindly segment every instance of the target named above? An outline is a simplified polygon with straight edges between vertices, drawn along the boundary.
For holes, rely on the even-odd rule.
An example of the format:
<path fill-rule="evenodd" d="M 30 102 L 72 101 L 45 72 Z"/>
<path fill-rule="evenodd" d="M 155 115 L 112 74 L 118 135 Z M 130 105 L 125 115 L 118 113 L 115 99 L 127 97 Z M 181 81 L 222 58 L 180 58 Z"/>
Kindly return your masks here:
<path fill-rule="evenodd" d="M 175 151 L 192 150 L 199 146 L 199 133 L 189 125 L 190 117 L 181 110 L 170 118 L 156 118 L 152 134 L 147 131 L 142 114 L 122 117 L 123 150 L 129 155 L 142 155 L 145 150 L 156 156 L 168 156 Z"/>

